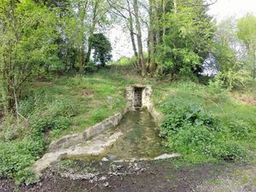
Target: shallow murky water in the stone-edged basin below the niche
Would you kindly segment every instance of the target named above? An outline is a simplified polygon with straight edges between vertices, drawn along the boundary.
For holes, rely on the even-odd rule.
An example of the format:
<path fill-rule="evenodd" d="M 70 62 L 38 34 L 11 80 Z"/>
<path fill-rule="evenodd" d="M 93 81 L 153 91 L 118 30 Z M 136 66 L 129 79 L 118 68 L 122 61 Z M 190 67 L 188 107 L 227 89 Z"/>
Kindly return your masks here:
<path fill-rule="evenodd" d="M 123 135 L 97 156 L 76 156 L 71 159 L 100 160 L 134 160 L 154 158 L 164 154 L 159 137 L 159 128 L 148 111 L 131 111 L 125 114 L 119 125 L 110 129 L 108 134 L 121 131 Z"/>

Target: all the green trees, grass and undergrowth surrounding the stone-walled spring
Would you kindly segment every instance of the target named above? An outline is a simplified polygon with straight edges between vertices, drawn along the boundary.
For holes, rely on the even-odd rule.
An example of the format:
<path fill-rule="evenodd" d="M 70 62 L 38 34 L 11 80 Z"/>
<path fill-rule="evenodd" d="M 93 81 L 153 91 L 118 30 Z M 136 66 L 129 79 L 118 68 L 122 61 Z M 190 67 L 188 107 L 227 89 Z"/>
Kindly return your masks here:
<path fill-rule="evenodd" d="M 37 181 L 29 167 L 49 143 L 124 108 L 125 86 L 135 83 L 154 86 L 170 151 L 193 163 L 249 160 L 256 19 L 217 25 L 206 2 L 1 0 L 0 177 Z M 134 56 L 110 61 L 116 25 Z"/>

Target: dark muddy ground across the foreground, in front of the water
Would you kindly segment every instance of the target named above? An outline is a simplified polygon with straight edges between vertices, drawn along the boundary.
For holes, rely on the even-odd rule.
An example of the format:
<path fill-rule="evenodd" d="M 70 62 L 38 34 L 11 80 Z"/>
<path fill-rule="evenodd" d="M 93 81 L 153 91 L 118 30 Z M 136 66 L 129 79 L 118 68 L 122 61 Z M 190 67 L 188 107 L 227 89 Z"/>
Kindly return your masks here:
<path fill-rule="evenodd" d="M 0 191 L 246 192 L 256 191 L 255 173 L 255 166 L 241 165 L 201 165 L 176 169 L 168 160 L 133 163 L 76 161 L 52 166 L 44 172 L 39 183 L 29 186 L 15 186 L 13 180 L 2 178 Z"/>

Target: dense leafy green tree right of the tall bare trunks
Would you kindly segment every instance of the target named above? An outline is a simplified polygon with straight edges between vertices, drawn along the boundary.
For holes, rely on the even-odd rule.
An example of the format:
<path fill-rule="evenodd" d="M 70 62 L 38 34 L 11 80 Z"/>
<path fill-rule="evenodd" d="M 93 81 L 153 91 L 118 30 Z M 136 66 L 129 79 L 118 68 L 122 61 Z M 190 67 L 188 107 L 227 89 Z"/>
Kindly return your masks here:
<path fill-rule="evenodd" d="M 165 15 L 166 35 L 156 52 L 158 73 L 180 75 L 202 72 L 202 63 L 212 51 L 214 23 L 203 1 L 183 5 Z"/>

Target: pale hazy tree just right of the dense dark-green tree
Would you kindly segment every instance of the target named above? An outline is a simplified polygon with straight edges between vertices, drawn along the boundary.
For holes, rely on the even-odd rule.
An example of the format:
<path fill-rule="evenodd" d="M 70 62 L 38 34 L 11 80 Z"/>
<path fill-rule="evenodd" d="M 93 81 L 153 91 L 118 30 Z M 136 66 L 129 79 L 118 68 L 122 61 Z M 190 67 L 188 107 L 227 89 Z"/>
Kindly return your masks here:
<path fill-rule="evenodd" d="M 236 31 L 236 20 L 223 20 L 218 24 L 212 50 L 218 68 L 216 79 L 222 80 L 224 87 L 229 90 L 244 86 L 248 77 L 243 61 L 243 46 Z"/>

